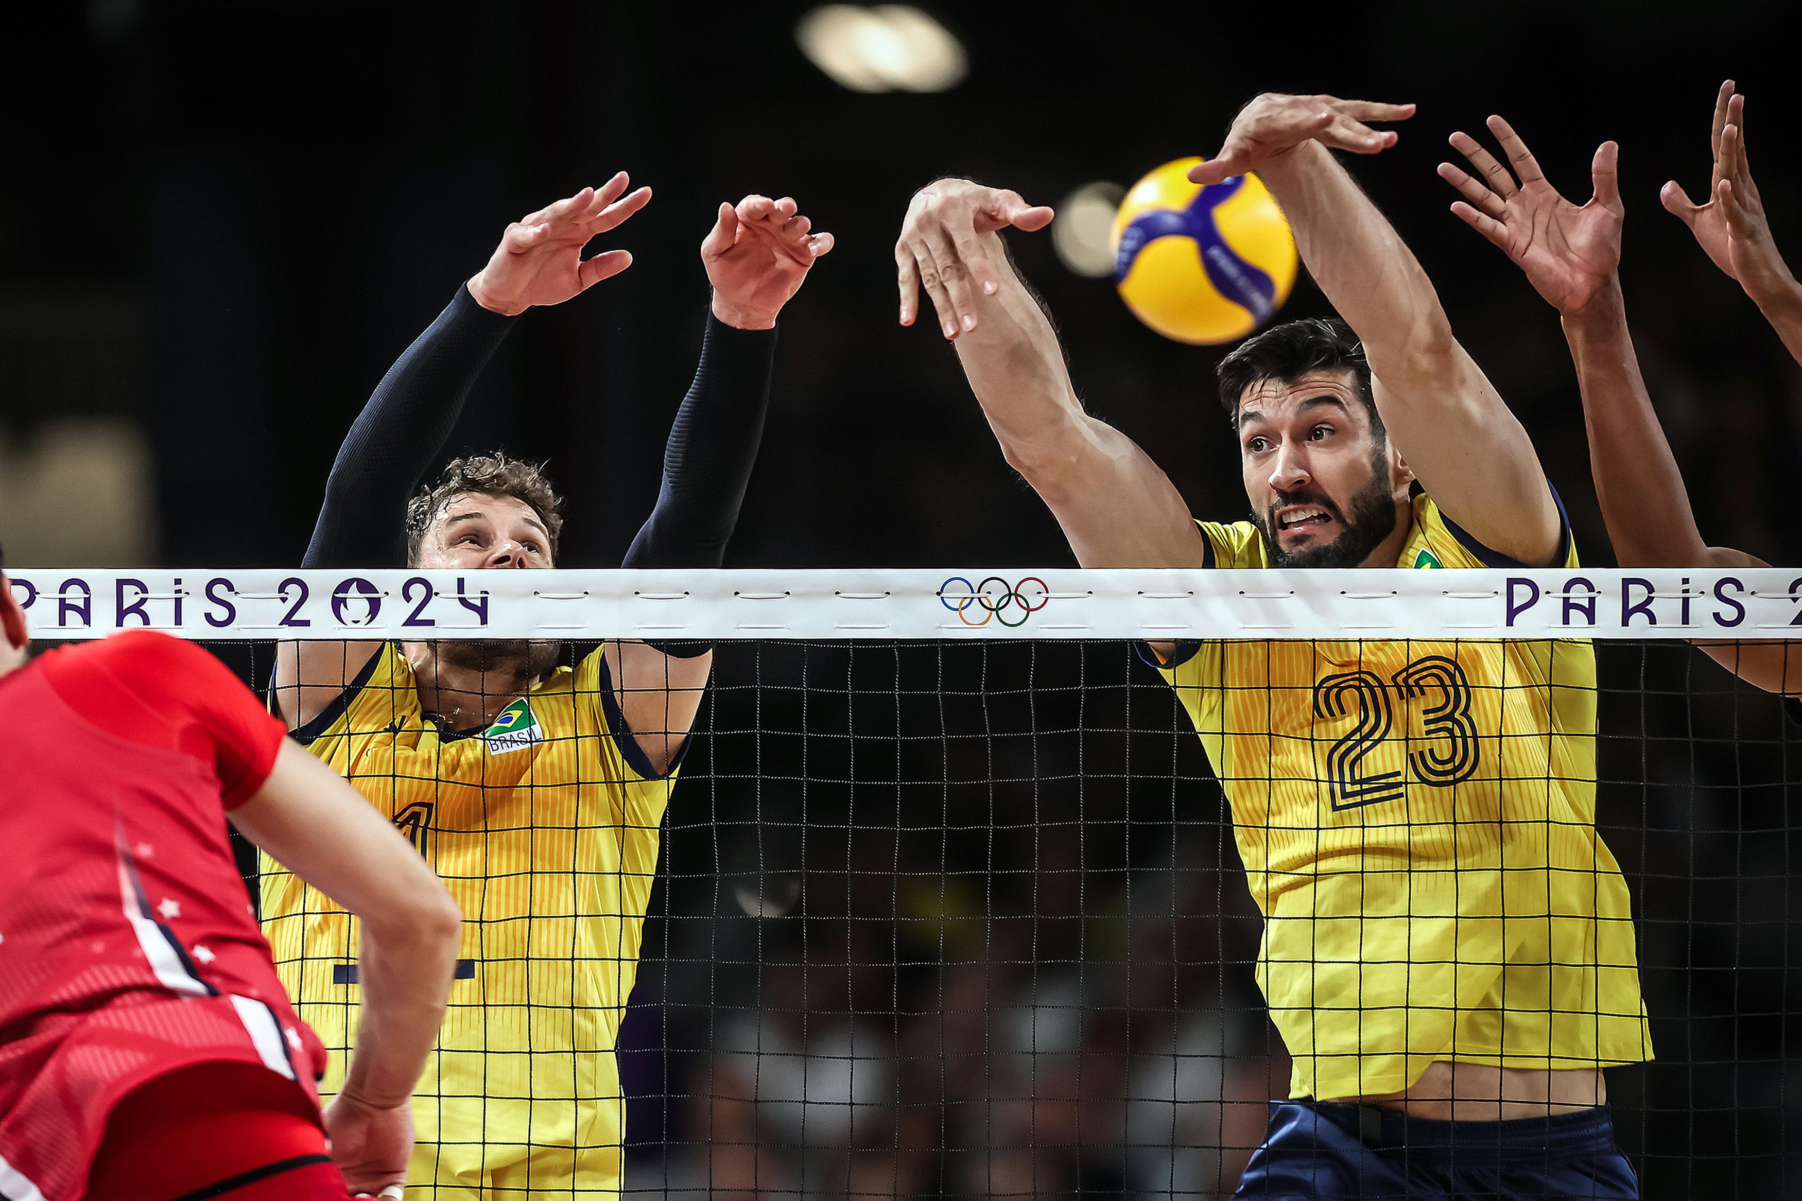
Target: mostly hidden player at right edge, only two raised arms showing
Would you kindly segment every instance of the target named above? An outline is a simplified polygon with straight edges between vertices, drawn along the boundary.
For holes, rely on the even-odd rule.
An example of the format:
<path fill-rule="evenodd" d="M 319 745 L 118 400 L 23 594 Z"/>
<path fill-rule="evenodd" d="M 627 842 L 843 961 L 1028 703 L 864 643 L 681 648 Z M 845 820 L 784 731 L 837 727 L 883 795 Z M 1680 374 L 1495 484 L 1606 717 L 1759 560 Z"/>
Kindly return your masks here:
<path fill-rule="evenodd" d="M 1708 200 L 1694 203 L 1676 184 L 1663 202 L 1696 234 L 1708 257 L 1744 288 L 1764 319 L 1802 362 L 1802 284 L 1771 239 L 1764 203 L 1746 164 L 1744 106 L 1734 81 L 1714 101 L 1714 178 Z M 1589 425 L 1589 468 L 1602 520 L 1622 567 L 1768 567 L 1726 546 L 1708 546 L 1696 526 L 1683 474 L 1658 425 L 1640 360 L 1627 330 L 1620 292 L 1620 230 L 1625 205 L 1616 176 L 1618 148 L 1604 142 L 1591 164 L 1593 194 L 1575 205 L 1546 182 L 1539 162 L 1501 117 L 1490 130 L 1515 149 L 1514 169 L 1469 133 L 1451 144 L 1476 175 L 1449 162 L 1440 176 L 1463 194 L 1452 211 L 1497 245 L 1562 319 L 1577 362 L 1584 420 Z M 1786 643 L 1697 643 L 1725 668 L 1770 691 L 1788 693 L 1791 715 L 1802 709 L 1802 664 Z"/>

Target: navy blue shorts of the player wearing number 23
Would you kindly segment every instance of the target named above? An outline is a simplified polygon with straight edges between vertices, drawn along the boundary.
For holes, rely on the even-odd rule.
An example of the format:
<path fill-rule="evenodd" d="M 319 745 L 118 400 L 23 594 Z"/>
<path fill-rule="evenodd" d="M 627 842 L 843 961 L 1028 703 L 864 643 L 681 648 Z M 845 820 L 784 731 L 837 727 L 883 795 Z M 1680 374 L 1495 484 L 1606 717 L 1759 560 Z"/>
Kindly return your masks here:
<path fill-rule="evenodd" d="M 1234 1201 L 1638 1201 L 1607 1106 L 1515 1122 L 1429 1122 L 1377 1106 L 1270 1102 Z"/>

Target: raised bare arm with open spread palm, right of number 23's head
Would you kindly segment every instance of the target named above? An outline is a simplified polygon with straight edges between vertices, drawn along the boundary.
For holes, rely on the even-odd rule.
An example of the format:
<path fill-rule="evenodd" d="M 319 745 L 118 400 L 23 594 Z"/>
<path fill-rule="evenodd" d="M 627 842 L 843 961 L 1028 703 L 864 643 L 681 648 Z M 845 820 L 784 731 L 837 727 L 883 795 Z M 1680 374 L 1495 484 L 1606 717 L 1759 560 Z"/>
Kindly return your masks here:
<path fill-rule="evenodd" d="M 1490 117 L 1490 130 L 1514 137 L 1499 117 Z M 1523 171 L 1515 180 L 1470 135 L 1454 133 L 1451 140 L 1483 176 L 1440 164 L 1440 176 L 1463 196 L 1452 203 L 1452 212 L 1499 247 L 1562 319 L 1589 430 L 1589 470 L 1615 558 L 1622 567 L 1764 565 L 1752 555 L 1710 547 L 1703 540 L 1676 456 L 1645 391 L 1620 292 L 1625 205 L 1615 142 L 1602 142 L 1595 151 L 1593 196 L 1579 207 L 1552 187 L 1537 164 L 1534 178 Z M 1514 140 L 1532 162 L 1526 146 Z M 1780 643 L 1697 645 L 1759 688 L 1802 688 L 1802 672 L 1789 666 L 1789 652 Z"/>

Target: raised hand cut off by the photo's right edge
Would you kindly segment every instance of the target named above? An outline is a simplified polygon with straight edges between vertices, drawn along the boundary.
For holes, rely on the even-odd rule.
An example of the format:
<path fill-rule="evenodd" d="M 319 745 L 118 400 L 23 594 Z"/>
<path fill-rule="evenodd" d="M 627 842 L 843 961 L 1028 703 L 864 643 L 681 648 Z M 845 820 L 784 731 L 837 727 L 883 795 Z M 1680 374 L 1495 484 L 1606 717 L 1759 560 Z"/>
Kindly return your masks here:
<path fill-rule="evenodd" d="M 1752 167 L 1746 164 L 1746 97 L 1735 92 L 1732 79 L 1721 85 L 1714 99 L 1710 144 L 1714 175 L 1708 180 L 1708 200 L 1694 203 L 1676 180 L 1665 184 L 1658 198 L 1690 227 L 1714 265 L 1737 279 L 1753 301 L 1762 303 L 1795 288 L 1795 277 L 1771 241 L 1759 187 L 1752 182 Z"/>

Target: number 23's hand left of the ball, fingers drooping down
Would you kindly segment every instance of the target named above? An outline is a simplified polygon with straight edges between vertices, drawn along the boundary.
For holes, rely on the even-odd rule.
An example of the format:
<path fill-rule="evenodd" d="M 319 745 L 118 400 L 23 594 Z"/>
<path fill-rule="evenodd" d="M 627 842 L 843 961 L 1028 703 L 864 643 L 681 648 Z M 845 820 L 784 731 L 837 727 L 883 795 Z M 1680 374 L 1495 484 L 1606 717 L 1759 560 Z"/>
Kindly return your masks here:
<path fill-rule="evenodd" d="M 919 290 L 926 288 L 948 339 L 977 328 L 975 293 L 995 295 L 1000 275 L 977 234 L 998 229 L 1038 230 L 1054 212 L 1029 205 L 1020 193 L 973 180 L 933 180 L 914 193 L 896 241 L 901 324 L 912 326 Z"/>

